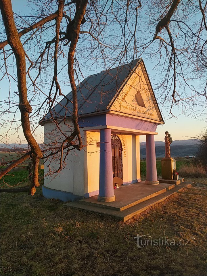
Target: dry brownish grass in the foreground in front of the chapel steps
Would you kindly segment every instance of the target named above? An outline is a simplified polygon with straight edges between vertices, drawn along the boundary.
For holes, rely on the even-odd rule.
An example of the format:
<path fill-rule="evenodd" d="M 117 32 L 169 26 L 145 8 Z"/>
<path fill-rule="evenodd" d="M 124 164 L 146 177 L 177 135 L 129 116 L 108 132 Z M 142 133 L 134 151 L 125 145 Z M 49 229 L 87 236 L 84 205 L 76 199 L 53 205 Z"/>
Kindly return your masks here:
<path fill-rule="evenodd" d="M 0 275 L 205 276 L 206 196 L 207 189 L 185 189 L 123 223 L 65 208 L 41 189 L 34 197 L 1 194 Z M 138 249 L 137 234 L 190 245 Z"/>

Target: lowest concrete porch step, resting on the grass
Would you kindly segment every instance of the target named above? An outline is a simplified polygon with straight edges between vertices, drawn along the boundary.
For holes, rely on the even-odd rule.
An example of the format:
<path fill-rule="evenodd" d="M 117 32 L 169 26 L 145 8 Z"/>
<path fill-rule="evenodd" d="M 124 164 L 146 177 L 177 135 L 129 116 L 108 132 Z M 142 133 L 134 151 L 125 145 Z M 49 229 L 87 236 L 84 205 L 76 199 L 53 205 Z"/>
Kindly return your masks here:
<path fill-rule="evenodd" d="M 98 214 L 103 214 L 107 216 L 112 216 L 116 219 L 122 220 L 122 221 L 127 221 L 133 216 L 140 214 L 141 212 L 145 211 L 146 209 L 150 208 L 151 206 L 164 201 L 166 198 L 169 196 L 172 196 L 173 194 L 181 191 L 182 189 L 186 187 L 190 187 L 191 183 L 181 183 L 179 186 L 176 186 L 174 189 L 170 189 L 166 191 L 165 193 L 162 193 L 154 198 L 150 198 L 144 202 L 141 202 L 139 204 L 136 204 L 130 208 L 127 208 L 123 211 L 118 211 L 118 210 L 112 210 L 108 208 L 103 208 L 99 207 L 98 205 L 87 205 L 83 204 L 83 202 L 69 202 L 64 204 L 65 207 L 71 207 L 71 208 L 78 208 L 82 210 L 86 210 L 89 212 L 96 212 Z"/>

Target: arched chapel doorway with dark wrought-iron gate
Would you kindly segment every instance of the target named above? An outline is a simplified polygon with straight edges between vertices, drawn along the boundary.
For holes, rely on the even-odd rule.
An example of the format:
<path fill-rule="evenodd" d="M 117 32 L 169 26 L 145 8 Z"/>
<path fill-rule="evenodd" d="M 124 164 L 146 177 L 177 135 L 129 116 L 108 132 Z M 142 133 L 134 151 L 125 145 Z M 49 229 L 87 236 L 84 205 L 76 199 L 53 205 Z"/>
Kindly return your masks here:
<path fill-rule="evenodd" d="M 113 167 L 113 182 L 119 186 L 123 184 L 122 173 L 122 143 L 117 135 L 112 135 L 112 167 Z"/>

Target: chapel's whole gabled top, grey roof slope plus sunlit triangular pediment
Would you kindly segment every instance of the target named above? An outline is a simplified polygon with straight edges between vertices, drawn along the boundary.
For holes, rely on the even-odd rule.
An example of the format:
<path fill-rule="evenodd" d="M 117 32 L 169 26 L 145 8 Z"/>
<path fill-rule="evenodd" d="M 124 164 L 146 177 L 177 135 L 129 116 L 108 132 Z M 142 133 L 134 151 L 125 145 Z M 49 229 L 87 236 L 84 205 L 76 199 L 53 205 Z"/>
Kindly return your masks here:
<path fill-rule="evenodd" d="M 138 69 L 138 67 L 140 67 L 140 69 Z M 133 81 L 133 78 L 138 78 L 137 76 L 140 78 L 141 74 L 143 74 L 145 80 L 145 92 L 141 92 L 140 89 L 137 89 L 136 83 Z M 133 89 L 130 88 L 130 90 L 129 87 Z M 80 117 L 92 114 L 98 115 L 100 112 L 112 111 L 127 116 L 137 116 L 161 123 L 164 122 L 156 102 L 149 76 L 147 75 L 145 65 L 141 58 L 132 60 L 129 64 L 88 76 L 76 87 L 76 89 L 78 115 Z M 146 93 L 148 93 L 148 96 L 146 96 Z M 127 99 L 130 99 L 130 97 L 137 102 L 137 106 L 134 104 L 135 102 L 132 104 L 127 102 Z M 73 104 L 70 102 L 72 101 L 71 92 L 67 95 L 67 98 L 69 99 L 68 103 L 67 99 L 64 98 L 52 109 L 54 118 L 61 119 L 64 117 L 72 117 Z M 145 101 L 145 104 L 143 100 Z M 141 101 L 141 106 L 138 101 Z M 149 108 L 150 101 L 150 106 L 152 108 Z M 124 104 L 129 104 L 129 106 L 134 108 L 128 108 L 130 112 L 127 112 L 126 108 L 122 108 Z M 152 110 L 154 110 L 156 116 L 151 113 Z M 47 113 L 41 123 L 50 119 L 51 114 Z"/>

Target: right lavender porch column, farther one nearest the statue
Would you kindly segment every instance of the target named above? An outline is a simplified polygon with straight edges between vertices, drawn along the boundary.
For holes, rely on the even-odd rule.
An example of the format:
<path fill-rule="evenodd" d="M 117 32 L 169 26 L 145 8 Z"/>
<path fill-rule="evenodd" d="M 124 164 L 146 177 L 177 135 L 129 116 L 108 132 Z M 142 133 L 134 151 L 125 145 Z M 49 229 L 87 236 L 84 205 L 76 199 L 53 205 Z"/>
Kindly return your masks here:
<path fill-rule="evenodd" d="M 158 185 L 154 135 L 146 135 L 147 179 L 145 184 Z"/>

